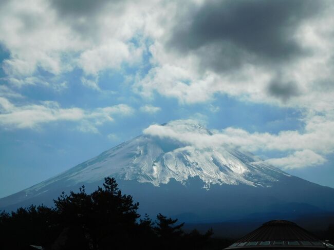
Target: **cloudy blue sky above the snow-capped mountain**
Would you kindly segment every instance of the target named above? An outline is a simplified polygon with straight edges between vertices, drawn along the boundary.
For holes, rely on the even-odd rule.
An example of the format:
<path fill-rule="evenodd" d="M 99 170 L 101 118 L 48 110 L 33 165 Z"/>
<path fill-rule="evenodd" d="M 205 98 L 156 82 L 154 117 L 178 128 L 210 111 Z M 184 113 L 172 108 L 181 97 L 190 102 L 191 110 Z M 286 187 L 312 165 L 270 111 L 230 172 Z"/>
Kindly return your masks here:
<path fill-rule="evenodd" d="M 0 197 L 143 132 L 334 187 L 333 1 L 0 5 Z"/>

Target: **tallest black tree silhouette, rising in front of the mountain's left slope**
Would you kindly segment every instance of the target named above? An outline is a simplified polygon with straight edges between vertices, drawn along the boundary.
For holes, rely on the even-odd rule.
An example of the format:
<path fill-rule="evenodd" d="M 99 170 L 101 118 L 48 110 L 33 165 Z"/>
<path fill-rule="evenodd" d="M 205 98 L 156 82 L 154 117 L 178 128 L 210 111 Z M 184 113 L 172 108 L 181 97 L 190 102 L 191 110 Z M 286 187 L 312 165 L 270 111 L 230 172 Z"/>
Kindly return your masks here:
<path fill-rule="evenodd" d="M 92 249 L 109 249 L 131 243 L 139 203 L 132 196 L 122 195 L 114 178 L 104 179 L 103 188 L 86 194 L 85 187 L 79 193 L 70 192 L 54 200 L 55 207 L 66 227 L 79 226 Z"/>

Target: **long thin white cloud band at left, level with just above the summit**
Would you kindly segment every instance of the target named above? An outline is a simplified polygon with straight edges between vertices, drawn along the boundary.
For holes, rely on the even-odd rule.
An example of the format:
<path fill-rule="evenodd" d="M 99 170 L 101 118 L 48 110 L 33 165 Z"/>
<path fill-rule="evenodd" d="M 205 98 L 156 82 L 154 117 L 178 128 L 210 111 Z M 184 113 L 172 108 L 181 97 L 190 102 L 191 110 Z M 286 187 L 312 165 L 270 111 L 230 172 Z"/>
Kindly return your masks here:
<path fill-rule="evenodd" d="M 0 98 L 0 125 L 12 128 L 39 128 L 40 125 L 56 122 L 81 122 L 79 130 L 98 132 L 96 126 L 114 121 L 114 115 L 128 116 L 133 109 L 125 104 L 84 110 L 81 108 L 61 108 L 57 102 L 41 102 L 15 106 L 6 98 Z"/>

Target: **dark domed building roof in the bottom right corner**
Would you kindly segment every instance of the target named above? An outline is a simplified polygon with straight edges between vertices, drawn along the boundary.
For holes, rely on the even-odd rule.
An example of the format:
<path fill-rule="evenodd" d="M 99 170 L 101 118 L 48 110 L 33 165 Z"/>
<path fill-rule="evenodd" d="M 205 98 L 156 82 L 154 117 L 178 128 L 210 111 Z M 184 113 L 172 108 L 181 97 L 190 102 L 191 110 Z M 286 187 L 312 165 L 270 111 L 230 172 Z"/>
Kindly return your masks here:
<path fill-rule="evenodd" d="M 320 250 L 326 247 L 334 248 L 331 244 L 325 245 L 325 242 L 291 221 L 273 220 L 264 223 L 225 249 L 307 248 Z"/>

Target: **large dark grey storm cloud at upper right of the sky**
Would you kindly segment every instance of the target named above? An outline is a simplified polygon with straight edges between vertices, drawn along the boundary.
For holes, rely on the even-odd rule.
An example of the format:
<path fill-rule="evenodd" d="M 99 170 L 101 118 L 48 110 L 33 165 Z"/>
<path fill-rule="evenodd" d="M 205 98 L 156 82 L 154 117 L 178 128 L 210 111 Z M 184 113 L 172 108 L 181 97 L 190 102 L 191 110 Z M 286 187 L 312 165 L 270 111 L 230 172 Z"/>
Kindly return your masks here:
<path fill-rule="evenodd" d="M 203 5 L 175 28 L 167 47 L 198 53 L 215 71 L 244 63 L 281 63 L 307 51 L 294 40 L 296 28 L 319 13 L 323 1 L 225 0 Z"/>

